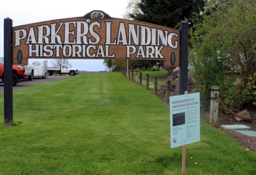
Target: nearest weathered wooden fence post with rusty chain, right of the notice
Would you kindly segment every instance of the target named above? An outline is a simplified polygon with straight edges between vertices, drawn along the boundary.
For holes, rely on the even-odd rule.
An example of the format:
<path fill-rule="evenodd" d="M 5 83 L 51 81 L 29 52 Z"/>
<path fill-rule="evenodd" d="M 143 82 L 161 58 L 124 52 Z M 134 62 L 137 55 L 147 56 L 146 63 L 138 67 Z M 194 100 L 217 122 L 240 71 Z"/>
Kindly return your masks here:
<path fill-rule="evenodd" d="M 218 124 L 218 113 L 219 113 L 219 100 L 216 98 L 215 94 L 219 96 L 219 87 L 211 87 L 211 103 L 210 103 L 210 124 L 212 126 L 217 126 Z"/>

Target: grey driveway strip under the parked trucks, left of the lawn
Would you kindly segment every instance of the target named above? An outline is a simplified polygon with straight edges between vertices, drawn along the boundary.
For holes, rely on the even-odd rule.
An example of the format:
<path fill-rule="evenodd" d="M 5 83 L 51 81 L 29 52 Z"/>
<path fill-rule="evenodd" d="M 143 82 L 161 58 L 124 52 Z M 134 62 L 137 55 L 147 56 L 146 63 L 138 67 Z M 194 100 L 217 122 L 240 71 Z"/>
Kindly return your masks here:
<path fill-rule="evenodd" d="M 24 88 L 24 87 L 28 87 L 31 85 L 35 85 L 35 84 L 40 84 L 40 83 L 47 83 L 53 80 L 61 80 L 64 78 L 67 78 L 68 76 L 66 75 L 62 75 L 62 76 L 48 76 L 45 79 L 42 78 L 34 78 L 32 81 L 29 81 L 28 79 L 24 80 L 22 79 L 21 82 L 17 83 L 16 86 L 13 86 L 12 89 L 13 91 L 19 89 L 19 88 Z M 0 94 L 4 93 L 4 83 L 3 81 L 0 79 Z"/>

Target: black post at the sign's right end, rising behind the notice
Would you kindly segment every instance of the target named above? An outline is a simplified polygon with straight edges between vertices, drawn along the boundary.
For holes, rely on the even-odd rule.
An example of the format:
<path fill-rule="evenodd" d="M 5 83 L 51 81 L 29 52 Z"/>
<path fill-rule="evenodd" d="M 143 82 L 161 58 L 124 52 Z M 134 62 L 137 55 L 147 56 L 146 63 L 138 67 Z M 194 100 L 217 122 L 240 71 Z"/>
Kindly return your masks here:
<path fill-rule="evenodd" d="M 188 90 L 188 22 L 180 23 L 180 89 L 179 95 Z"/>

